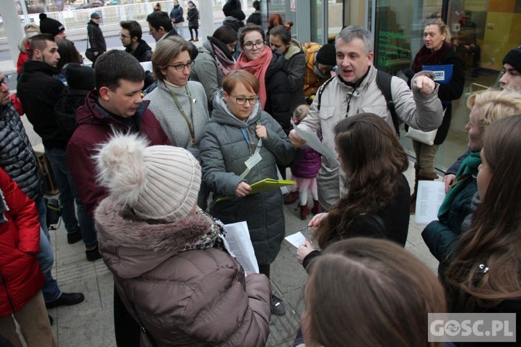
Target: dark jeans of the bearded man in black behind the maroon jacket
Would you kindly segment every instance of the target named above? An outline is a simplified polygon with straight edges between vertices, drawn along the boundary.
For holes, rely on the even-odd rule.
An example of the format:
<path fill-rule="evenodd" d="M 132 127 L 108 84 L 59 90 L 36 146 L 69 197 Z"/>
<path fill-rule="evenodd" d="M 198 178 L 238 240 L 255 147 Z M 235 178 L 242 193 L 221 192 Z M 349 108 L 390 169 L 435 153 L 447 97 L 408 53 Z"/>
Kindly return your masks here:
<path fill-rule="evenodd" d="M 64 149 L 45 149 L 45 155 L 51 162 L 54 179 L 60 191 L 60 199 L 63 205 L 62 218 L 65 223 L 65 229 L 70 233 L 76 232 L 80 228 L 85 247 L 94 248 L 98 242 L 94 221 L 88 216 L 81 203 L 71 171 L 67 166 L 67 153 Z M 78 219 L 76 219 L 74 201 L 76 201 L 76 207 L 78 208 Z"/>

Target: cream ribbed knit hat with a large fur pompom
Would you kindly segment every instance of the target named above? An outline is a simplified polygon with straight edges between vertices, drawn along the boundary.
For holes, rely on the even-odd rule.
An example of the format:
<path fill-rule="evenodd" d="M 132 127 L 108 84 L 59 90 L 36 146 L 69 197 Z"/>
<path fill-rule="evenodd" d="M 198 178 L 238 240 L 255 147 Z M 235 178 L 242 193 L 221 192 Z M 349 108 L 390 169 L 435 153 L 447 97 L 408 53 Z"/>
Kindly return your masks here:
<path fill-rule="evenodd" d="M 197 202 L 201 168 L 185 149 L 148 146 L 139 135 L 117 133 L 94 160 L 99 183 L 140 219 L 179 221 Z"/>

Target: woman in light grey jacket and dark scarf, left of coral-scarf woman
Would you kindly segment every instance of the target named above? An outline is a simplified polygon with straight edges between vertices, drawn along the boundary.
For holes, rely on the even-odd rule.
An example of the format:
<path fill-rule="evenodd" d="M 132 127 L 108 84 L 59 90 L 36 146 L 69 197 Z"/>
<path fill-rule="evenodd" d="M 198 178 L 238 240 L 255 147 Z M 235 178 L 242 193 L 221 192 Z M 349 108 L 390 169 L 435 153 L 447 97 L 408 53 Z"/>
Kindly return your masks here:
<path fill-rule="evenodd" d="M 208 110 L 213 110 L 213 98 L 222 86 L 222 78 L 235 65 L 235 45 L 237 32 L 229 26 L 220 26 L 212 36 L 208 36 L 194 62 L 190 78 L 199 81 L 208 98 Z"/>

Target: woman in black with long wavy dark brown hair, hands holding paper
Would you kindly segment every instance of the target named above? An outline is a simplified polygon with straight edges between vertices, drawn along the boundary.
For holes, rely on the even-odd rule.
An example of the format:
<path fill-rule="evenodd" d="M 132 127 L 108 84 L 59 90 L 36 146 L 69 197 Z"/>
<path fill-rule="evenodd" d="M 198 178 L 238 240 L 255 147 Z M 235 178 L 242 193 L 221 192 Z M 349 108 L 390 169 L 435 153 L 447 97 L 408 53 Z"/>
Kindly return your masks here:
<path fill-rule="evenodd" d="M 395 131 L 381 117 L 362 113 L 335 126 L 335 144 L 348 192 L 330 212 L 316 214 L 310 226 L 313 241 L 324 249 L 349 237 L 390 239 L 405 246 L 410 189 L 402 172 L 408 158 Z M 299 246 L 304 268 L 320 255 L 310 242 Z"/>

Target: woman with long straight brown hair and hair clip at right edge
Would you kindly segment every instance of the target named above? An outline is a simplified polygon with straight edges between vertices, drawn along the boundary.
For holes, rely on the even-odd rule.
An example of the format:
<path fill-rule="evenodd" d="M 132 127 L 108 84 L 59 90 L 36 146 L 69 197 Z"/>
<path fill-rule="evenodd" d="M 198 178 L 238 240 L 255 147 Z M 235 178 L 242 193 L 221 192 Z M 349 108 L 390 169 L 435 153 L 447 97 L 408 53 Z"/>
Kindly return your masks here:
<path fill-rule="evenodd" d="M 442 273 L 450 312 L 521 314 L 520 162 L 521 115 L 494 121 L 483 137 L 477 175 L 482 202 Z"/>

